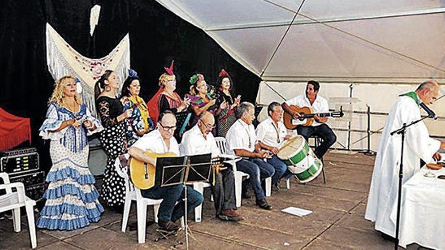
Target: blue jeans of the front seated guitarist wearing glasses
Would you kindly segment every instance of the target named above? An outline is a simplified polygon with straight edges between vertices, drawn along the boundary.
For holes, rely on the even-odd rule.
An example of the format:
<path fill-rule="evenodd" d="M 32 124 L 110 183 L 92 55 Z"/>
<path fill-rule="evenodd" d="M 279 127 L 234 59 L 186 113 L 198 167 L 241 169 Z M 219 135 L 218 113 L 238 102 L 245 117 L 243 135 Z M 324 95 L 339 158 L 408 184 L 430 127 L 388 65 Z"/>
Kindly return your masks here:
<path fill-rule="evenodd" d="M 141 190 L 142 196 L 151 199 L 162 199 L 159 206 L 158 219 L 160 221 L 172 221 L 184 216 L 184 185 L 154 186 L 150 189 Z M 177 204 L 176 204 L 177 202 Z M 187 211 L 191 212 L 204 202 L 204 197 L 198 191 L 187 187 Z M 176 205 L 175 205 L 176 204 Z"/>

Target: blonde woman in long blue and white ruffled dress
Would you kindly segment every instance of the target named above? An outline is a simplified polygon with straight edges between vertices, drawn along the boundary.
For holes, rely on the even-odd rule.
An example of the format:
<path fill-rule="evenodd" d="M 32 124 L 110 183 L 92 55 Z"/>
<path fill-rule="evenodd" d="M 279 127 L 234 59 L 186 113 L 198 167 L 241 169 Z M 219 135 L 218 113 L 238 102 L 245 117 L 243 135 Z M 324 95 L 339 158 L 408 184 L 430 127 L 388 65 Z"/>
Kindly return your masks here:
<path fill-rule="evenodd" d="M 51 140 L 53 162 L 47 176 L 50 184 L 43 194 L 47 202 L 37 220 L 39 228 L 75 230 L 99 221 L 104 211 L 88 169 L 87 138 L 103 128 L 82 104 L 76 84 L 70 76 L 57 81 L 39 129 L 43 139 Z"/>

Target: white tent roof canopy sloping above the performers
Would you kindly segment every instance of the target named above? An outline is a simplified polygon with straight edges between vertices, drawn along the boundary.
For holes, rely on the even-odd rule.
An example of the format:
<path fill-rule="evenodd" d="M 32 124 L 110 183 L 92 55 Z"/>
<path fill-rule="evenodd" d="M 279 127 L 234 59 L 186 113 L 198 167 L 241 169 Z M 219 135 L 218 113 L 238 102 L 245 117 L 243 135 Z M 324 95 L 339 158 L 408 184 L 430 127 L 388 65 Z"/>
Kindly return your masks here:
<path fill-rule="evenodd" d="M 262 80 L 445 77 L 443 1 L 158 2 Z"/>

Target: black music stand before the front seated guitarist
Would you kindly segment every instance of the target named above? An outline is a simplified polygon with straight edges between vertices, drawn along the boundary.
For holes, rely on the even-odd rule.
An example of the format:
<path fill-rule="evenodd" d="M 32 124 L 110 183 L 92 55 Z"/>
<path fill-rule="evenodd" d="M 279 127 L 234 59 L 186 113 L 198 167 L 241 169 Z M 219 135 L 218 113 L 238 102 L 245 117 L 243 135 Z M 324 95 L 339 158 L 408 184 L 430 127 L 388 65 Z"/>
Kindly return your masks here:
<path fill-rule="evenodd" d="M 184 185 L 184 230 L 186 247 L 189 249 L 189 227 L 187 223 L 187 186 L 194 182 L 208 182 L 211 174 L 211 154 L 162 157 L 156 159 L 156 184 L 163 186 Z M 191 232 L 191 231 L 190 231 Z"/>

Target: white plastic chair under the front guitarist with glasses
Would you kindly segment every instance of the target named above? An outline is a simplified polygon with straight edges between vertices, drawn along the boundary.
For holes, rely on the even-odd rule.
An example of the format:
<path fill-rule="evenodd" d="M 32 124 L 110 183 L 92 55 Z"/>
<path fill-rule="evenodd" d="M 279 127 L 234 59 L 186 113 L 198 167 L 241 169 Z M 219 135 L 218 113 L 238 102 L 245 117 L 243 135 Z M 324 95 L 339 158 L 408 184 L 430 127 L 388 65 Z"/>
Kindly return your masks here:
<path fill-rule="evenodd" d="M 125 154 L 125 157 L 128 159 L 129 155 Z M 130 214 L 131 201 L 135 201 L 136 210 L 138 213 L 138 243 L 145 243 L 147 206 L 153 206 L 154 220 L 156 223 L 158 223 L 158 211 L 162 199 L 150 199 L 143 197 L 141 194 L 141 189 L 135 187 L 135 185 L 131 183 L 127 174 L 128 168 L 127 167 L 122 168 L 119 158 L 116 159 L 114 167 L 116 168 L 118 175 L 124 178 L 125 181 L 125 204 L 122 214 L 121 231 L 125 232 L 126 230 L 128 223 L 128 216 Z M 184 227 L 184 218 L 181 218 L 181 226 Z"/>

